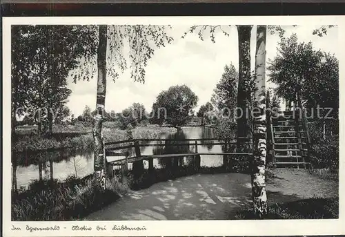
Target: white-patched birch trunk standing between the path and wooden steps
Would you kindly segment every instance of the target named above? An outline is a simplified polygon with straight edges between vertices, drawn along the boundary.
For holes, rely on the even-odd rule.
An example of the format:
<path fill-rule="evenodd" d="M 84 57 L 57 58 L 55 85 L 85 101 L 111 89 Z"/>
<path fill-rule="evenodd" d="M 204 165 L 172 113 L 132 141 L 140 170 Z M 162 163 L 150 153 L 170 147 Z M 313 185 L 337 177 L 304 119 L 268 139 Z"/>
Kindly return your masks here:
<path fill-rule="evenodd" d="M 257 26 L 257 48 L 255 55 L 255 107 L 260 113 L 254 116 L 253 164 L 251 171 L 253 209 L 257 218 L 267 214 L 265 189 L 266 165 L 266 26 Z"/>

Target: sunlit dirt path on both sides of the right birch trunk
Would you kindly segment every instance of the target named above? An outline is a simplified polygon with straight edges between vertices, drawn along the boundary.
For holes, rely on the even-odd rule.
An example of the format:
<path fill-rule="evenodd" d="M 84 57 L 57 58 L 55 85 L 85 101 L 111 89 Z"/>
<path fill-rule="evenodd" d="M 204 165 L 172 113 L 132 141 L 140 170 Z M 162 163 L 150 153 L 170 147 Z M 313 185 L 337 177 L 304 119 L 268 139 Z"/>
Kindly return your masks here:
<path fill-rule="evenodd" d="M 320 190 L 323 196 L 335 193 L 334 186 L 306 171 L 276 175 L 267 185 L 270 204 L 311 198 Z M 226 220 L 250 205 L 250 187 L 250 176 L 241 173 L 178 178 L 132 191 L 86 220 Z"/>

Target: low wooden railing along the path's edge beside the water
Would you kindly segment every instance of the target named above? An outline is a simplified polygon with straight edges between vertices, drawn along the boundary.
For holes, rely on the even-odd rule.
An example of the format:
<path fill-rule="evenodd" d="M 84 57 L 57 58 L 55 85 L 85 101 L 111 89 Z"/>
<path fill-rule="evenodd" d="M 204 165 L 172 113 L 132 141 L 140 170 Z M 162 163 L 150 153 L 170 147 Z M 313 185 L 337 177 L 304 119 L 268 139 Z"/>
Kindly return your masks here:
<path fill-rule="evenodd" d="M 244 143 L 251 144 L 250 138 L 239 138 L 244 141 Z M 147 143 L 149 142 L 149 143 Z M 217 138 L 196 138 L 196 139 L 183 139 L 183 140 L 173 140 L 173 139 L 130 139 L 117 142 L 106 142 L 104 143 L 104 155 L 110 156 L 122 156 L 117 160 L 108 161 L 108 173 L 114 175 L 113 166 L 121 167 L 121 175 L 126 176 L 128 173 L 128 163 L 132 163 L 132 171 L 134 173 L 144 172 L 143 160 L 148 161 L 148 170 L 154 169 L 153 159 L 171 159 L 171 158 L 183 158 L 193 156 L 195 158 L 195 168 L 200 168 L 201 158 L 200 155 L 223 155 L 224 168 L 228 169 L 229 158 L 237 155 L 253 155 L 253 153 L 244 152 L 230 152 L 230 146 L 236 146 L 237 138 L 231 138 L 229 140 L 220 141 Z M 198 146 L 207 145 L 221 145 L 224 147 L 223 152 L 210 152 L 203 153 L 198 151 Z M 163 153 L 163 154 L 150 154 L 141 155 L 141 147 L 157 147 L 157 146 L 192 146 L 194 151 L 181 152 L 181 153 Z"/>

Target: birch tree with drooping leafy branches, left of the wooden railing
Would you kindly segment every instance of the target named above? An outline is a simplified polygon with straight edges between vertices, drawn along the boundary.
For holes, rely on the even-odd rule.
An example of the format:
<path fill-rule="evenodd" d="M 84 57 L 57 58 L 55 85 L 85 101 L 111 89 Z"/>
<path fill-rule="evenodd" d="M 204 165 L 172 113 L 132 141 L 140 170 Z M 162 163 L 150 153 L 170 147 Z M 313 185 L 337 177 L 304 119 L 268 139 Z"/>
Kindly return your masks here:
<path fill-rule="evenodd" d="M 102 124 L 106 103 L 107 77 L 114 81 L 120 73 L 128 69 L 135 82 L 145 82 L 148 59 L 155 48 L 166 46 L 173 40 L 166 33 L 167 26 L 77 26 L 88 32 L 84 38 L 77 39 L 85 47 L 80 59 L 79 70 L 72 74 L 74 82 L 88 80 L 97 75 L 97 99 L 92 135 L 94 138 L 94 173 L 102 189 L 106 187 L 106 158 L 103 155 Z M 170 28 L 170 26 L 168 26 Z M 88 44 L 90 43 L 90 44 Z M 123 52 L 129 46 L 129 54 Z M 126 57 L 128 56 L 129 59 Z M 90 66 L 91 63 L 91 66 Z M 95 66 L 97 65 L 97 67 Z"/>

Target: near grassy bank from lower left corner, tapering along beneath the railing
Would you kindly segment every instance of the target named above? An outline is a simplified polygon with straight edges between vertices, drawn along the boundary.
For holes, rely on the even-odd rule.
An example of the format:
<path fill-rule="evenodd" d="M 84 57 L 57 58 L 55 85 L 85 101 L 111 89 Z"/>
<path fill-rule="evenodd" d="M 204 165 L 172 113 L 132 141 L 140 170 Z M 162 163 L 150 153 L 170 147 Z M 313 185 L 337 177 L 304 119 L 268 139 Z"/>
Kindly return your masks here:
<path fill-rule="evenodd" d="M 178 169 L 145 170 L 139 178 L 128 173 L 128 183 L 119 182 L 121 177 L 106 182 L 106 191 L 101 191 L 92 176 L 67 180 L 42 180 L 32 182 L 28 190 L 12 193 L 13 221 L 80 220 L 92 212 L 103 209 L 132 190 L 143 190 L 153 184 L 192 176 L 197 173 L 226 173 L 222 167 L 178 167 Z"/>

